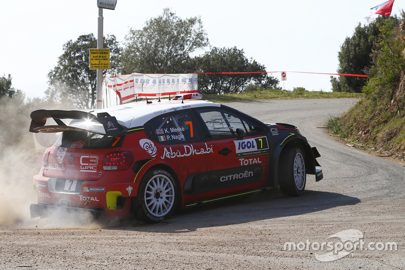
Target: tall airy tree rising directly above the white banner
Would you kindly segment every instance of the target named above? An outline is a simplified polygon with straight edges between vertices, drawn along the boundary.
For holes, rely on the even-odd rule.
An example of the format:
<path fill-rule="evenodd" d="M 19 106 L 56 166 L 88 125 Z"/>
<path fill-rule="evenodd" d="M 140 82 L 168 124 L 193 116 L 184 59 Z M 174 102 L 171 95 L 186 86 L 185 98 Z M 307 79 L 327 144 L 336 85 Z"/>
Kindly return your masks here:
<path fill-rule="evenodd" d="M 190 54 L 208 46 L 199 17 L 185 20 L 166 8 L 141 30 L 130 29 L 125 37 L 120 72 L 183 73 L 190 68 Z"/>

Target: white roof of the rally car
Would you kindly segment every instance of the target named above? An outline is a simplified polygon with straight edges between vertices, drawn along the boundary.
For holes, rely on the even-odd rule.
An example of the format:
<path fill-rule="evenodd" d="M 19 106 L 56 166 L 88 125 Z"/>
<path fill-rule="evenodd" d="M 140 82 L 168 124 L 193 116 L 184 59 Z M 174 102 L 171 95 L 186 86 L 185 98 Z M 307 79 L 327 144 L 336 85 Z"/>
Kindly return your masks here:
<path fill-rule="evenodd" d="M 148 103 L 151 102 L 151 103 Z M 208 100 L 156 100 L 138 101 L 126 103 L 114 107 L 96 110 L 93 113 L 97 115 L 100 112 L 107 112 L 115 117 L 117 122 L 126 128 L 143 126 L 150 119 L 159 114 L 171 111 L 184 110 L 199 107 L 220 107 L 221 104 L 210 102 Z"/>

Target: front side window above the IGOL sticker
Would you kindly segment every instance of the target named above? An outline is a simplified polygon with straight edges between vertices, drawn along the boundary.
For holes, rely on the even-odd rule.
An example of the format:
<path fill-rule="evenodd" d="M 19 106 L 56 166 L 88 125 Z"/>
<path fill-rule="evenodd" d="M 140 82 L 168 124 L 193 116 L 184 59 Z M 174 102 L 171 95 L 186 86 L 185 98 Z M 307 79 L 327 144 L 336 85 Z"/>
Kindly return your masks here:
<path fill-rule="evenodd" d="M 210 136 L 213 138 L 236 136 L 236 129 L 244 131 L 244 135 L 264 131 L 264 128 L 256 121 L 232 111 L 207 108 L 198 109 L 197 113 L 203 119 Z"/>

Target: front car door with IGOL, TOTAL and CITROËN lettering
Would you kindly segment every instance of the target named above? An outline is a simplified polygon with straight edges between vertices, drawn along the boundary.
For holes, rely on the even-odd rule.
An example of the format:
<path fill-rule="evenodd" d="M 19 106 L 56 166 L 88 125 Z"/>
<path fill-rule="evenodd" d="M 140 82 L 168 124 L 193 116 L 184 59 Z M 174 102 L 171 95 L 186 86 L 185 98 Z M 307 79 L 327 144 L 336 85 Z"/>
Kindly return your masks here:
<path fill-rule="evenodd" d="M 196 119 L 212 148 L 212 170 L 194 175 L 194 194 L 217 196 L 263 186 L 269 146 L 263 123 L 227 108 L 195 109 Z M 266 178 L 266 179 L 264 179 Z"/>

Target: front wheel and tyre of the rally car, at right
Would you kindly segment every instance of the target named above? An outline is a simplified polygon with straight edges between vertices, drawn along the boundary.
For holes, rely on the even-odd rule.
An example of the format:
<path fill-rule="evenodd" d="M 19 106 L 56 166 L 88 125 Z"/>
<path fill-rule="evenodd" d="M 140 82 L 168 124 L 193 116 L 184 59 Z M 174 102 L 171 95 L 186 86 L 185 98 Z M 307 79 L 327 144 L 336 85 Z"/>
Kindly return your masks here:
<path fill-rule="evenodd" d="M 281 152 L 279 160 L 280 190 L 291 196 L 300 196 L 305 189 L 305 156 L 301 148 L 291 146 Z"/>

